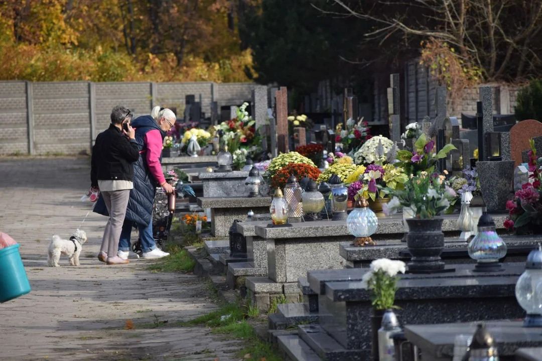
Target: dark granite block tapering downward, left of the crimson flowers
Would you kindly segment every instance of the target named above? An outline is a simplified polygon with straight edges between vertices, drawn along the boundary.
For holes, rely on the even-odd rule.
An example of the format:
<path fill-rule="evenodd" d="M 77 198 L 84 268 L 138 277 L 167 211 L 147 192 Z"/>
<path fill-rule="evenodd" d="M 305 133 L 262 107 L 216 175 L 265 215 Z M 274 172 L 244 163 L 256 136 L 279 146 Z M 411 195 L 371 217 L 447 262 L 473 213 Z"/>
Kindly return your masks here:
<path fill-rule="evenodd" d="M 476 169 L 487 211 L 504 210 L 513 195 L 514 161 L 476 162 Z"/>

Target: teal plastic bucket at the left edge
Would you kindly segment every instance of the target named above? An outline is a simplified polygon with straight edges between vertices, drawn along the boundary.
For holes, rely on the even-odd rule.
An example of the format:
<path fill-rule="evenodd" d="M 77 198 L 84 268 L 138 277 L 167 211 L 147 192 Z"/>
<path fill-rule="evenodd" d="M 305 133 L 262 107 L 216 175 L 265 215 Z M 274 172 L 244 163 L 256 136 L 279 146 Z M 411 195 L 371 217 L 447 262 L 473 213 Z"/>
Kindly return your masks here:
<path fill-rule="evenodd" d="M 0 250 L 0 303 L 30 292 L 30 283 L 24 271 L 19 245 Z"/>

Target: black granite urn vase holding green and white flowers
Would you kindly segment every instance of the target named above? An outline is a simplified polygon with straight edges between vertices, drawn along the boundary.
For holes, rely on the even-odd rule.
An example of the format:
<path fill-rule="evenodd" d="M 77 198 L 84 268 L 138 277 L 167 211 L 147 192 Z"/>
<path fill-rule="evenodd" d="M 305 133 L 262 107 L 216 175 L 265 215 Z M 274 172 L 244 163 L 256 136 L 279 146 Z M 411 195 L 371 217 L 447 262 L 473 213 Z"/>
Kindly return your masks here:
<path fill-rule="evenodd" d="M 409 233 L 406 246 L 412 255 L 408 263 L 411 273 L 430 273 L 444 270 L 440 255 L 444 249 L 442 218 L 407 219 Z"/>

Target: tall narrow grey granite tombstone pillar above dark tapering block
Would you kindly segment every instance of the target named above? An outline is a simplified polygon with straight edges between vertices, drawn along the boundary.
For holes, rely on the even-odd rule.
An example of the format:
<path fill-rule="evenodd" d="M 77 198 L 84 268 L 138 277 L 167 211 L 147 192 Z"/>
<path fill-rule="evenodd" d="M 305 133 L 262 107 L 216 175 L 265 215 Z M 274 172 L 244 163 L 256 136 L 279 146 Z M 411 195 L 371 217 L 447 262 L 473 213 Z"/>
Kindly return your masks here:
<path fill-rule="evenodd" d="M 493 132 L 493 89 L 480 87 L 480 101 L 476 104 L 478 114 L 478 160 L 486 161 L 490 154 L 487 134 Z"/>

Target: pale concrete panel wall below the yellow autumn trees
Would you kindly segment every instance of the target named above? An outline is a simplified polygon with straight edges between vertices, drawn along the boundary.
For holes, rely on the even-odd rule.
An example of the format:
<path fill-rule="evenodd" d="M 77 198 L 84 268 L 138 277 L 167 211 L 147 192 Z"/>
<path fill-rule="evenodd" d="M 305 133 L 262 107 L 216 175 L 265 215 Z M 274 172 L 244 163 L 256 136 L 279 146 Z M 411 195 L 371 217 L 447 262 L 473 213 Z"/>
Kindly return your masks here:
<path fill-rule="evenodd" d="M 202 99 L 205 117 L 211 102 L 221 106 L 251 101 L 253 83 L 212 82 L 0 82 L 0 155 L 89 153 L 122 104 L 135 116 L 153 106 L 176 107 L 183 117 L 185 96 Z"/>

